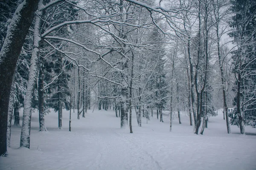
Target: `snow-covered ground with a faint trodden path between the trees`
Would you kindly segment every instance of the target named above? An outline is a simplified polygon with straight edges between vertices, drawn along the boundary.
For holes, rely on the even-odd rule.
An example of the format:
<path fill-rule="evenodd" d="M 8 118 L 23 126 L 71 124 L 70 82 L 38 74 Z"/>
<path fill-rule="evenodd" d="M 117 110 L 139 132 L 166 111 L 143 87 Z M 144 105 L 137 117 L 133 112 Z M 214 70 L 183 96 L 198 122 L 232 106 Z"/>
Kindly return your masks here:
<path fill-rule="evenodd" d="M 63 111 L 61 130 L 58 114 L 46 115 L 47 133 L 38 132 L 38 113 L 32 113 L 30 150 L 19 148 L 20 128 L 12 127 L 9 156 L 0 157 L 0 169 L 256 170 L 256 128 L 246 127 L 243 136 L 231 126 L 232 134 L 227 134 L 222 114 L 210 117 L 204 135 L 196 135 L 185 114 L 182 124 L 175 117 L 172 132 L 167 112 L 163 123 L 154 113 L 148 124 L 143 118 L 142 127 L 133 114 L 131 134 L 128 127 L 120 129 L 120 118 L 113 111 L 88 112 L 77 120 L 72 110 L 72 132 L 69 111 Z"/>

